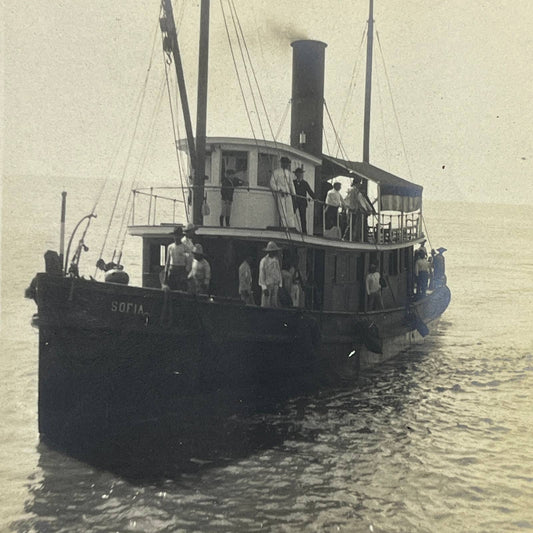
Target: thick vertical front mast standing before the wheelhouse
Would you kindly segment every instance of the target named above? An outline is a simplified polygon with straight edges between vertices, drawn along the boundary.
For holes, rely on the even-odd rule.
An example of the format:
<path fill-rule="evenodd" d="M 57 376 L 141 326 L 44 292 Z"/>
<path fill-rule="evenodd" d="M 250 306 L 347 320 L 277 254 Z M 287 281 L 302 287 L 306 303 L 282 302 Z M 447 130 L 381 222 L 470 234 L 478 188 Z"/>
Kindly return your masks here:
<path fill-rule="evenodd" d="M 204 200 L 207 71 L 209 61 L 209 2 L 210 0 L 202 0 L 200 10 L 200 51 L 198 58 L 198 99 L 196 114 L 196 166 L 192 195 L 192 221 L 195 225 L 202 225 L 203 223 L 202 202 Z"/>

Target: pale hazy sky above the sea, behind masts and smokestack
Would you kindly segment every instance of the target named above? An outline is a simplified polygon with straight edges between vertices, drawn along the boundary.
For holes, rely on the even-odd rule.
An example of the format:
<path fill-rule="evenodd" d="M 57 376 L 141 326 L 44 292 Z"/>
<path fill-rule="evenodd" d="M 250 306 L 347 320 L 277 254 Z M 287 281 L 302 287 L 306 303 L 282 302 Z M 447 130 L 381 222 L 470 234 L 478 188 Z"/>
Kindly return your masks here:
<path fill-rule="evenodd" d="M 194 116 L 199 0 L 173 3 Z M 367 1 L 234 4 L 274 131 L 290 99 L 291 40 L 324 41 L 326 103 L 347 156 L 360 160 Z M 3 10 L 4 177 L 90 184 L 140 169 L 142 183 L 177 180 L 168 96 L 159 96 L 159 0 L 4 0 Z M 375 0 L 374 19 L 371 163 L 423 185 L 429 200 L 533 203 L 533 3 Z M 251 137 L 217 1 L 207 129 Z M 279 140 L 288 132 L 287 120 Z"/>

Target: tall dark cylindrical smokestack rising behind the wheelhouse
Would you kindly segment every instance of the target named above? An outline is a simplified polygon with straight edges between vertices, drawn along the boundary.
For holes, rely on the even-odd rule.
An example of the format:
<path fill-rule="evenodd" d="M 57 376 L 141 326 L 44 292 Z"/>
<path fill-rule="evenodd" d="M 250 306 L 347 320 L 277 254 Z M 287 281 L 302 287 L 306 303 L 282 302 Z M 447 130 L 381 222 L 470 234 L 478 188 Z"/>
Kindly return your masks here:
<path fill-rule="evenodd" d="M 291 146 L 322 157 L 324 58 L 326 43 L 294 41 L 292 55 Z"/>

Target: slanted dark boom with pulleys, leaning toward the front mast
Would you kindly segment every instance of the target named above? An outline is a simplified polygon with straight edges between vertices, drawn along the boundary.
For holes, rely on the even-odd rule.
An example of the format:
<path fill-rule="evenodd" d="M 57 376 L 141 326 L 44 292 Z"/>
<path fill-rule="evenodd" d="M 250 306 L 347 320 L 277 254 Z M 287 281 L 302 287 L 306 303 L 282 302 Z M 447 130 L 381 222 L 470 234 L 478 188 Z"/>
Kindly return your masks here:
<path fill-rule="evenodd" d="M 163 41 L 163 48 L 166 52 L 171 51 L 174 57 L 174 66 L 176 68 L 176 78 L 180 93 L 181 108 L 183 110 L 183 120 L 185 122 L 185 131 L 187 132 L 187 144 L 192 166 L 196 165 L 196 150 L 194 148 L 194 137 L 192 134 L 191 114 L 189 111 L 189 101 L 187 99 L 187 88 L 185 86 L 185 77 L 183 75 L 183 65 L 181 63 L 181 54 L 178 45 L 178 35 L 176 24 L 174 22 L 174 13 L 172 12 L 172 3 L 170 0 L 162 0 L 164 15 L 160 19 L 161 31 L 166 33 Z"/>

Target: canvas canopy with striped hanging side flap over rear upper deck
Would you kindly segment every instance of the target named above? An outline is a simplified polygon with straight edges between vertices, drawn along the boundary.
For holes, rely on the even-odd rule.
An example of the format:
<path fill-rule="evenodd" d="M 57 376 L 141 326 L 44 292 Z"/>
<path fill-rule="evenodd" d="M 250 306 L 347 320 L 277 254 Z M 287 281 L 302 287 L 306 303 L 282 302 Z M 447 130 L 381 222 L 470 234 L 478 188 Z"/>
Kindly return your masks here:
<path fill-rule="evenodd" d="M 322 176 L 358 176 L 374 181 L 380 189 L 381 211 L 409 213 L 422 206 L 422 187 L 399 178 L 369 163 L 346 161 L 328 155 L 322 156 Z"/>

